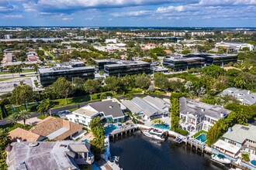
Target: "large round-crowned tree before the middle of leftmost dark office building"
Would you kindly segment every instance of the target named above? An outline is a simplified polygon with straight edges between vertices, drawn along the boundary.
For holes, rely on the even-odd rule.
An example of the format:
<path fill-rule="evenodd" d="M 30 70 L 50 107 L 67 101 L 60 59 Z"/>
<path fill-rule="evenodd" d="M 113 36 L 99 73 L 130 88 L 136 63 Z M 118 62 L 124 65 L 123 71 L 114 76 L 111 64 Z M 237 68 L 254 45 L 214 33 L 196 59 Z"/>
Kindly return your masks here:
<path fill-rule="evenodd" d="M 68 95 L 73 93 L 73 86 L 71 82 L 66 80 L 64 77 L 60 77 L 52 84 L 52 87 L 58 97 L 65 97 L 65 102 L 67 104 Z"/>

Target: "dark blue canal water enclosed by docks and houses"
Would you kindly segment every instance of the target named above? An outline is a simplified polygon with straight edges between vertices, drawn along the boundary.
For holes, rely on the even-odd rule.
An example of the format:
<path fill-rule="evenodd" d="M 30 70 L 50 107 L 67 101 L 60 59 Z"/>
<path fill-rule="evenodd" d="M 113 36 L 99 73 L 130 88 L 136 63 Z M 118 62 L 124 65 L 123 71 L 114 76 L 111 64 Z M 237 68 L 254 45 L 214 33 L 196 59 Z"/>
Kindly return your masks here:
<path fill-rule="evenodd" d="M 210 156 L 178 144 L 173 138 L 164 142 L 147 138 L 140 131 L 110 142 L 111 155 L 119 156 L 124 170 L 201 170 L 227 169 L 210 160 Z"/>

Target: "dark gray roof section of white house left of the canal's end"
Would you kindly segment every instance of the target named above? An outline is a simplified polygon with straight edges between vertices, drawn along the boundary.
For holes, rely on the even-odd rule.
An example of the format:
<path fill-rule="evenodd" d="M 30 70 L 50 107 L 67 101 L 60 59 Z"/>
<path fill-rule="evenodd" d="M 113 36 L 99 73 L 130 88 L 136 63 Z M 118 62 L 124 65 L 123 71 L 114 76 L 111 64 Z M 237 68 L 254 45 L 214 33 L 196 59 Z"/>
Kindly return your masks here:
<path fill-rule="evenodd" d="M 121 110 L 119 104 L 112 102 L 112 100 L 99 101 L 88 105 L 99 112 L 103 112 L 106 117 L 124 117 L 123 110 Z"/>

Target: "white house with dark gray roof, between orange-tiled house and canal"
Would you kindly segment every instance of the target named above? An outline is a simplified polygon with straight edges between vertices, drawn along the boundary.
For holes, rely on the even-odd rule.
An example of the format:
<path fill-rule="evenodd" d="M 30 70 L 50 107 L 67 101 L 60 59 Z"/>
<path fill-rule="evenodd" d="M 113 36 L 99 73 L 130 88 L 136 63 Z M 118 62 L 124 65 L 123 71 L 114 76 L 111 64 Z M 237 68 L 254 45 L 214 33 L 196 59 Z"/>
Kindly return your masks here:
<path fill-rule="evenodd" d="M 83 124 L 87 128 L 89 128 L 89 124 L 94 117 L 101 117 L 102 121 L 108 123 L 123 122 L 126 115 L 121 107 L 122 105 L 119 102 L 113 102 L 112 100 L 94 102 L 74 110 L 72 114 L 67 114 L 67 119 L 74 123 Z"/>

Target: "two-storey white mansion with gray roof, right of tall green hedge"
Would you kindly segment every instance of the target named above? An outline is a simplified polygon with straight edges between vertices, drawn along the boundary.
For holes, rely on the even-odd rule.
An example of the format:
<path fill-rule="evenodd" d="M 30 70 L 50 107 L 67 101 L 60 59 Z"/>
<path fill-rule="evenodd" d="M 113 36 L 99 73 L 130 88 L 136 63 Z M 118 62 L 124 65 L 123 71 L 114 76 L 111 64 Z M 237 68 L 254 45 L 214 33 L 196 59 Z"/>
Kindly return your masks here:
<path fill-rule="evenodd" d="M 227 117 L 231 110 L 220 105 L 205 104 L 185 97 L 179 99 L 180 104 L 180 128 L 196 133 L 197 131 L 209 131 L 219 119 Z"/>

